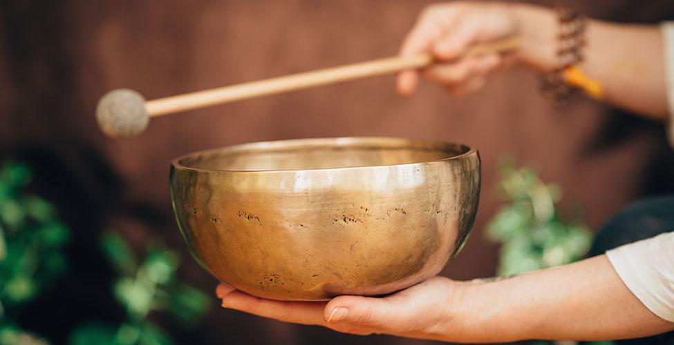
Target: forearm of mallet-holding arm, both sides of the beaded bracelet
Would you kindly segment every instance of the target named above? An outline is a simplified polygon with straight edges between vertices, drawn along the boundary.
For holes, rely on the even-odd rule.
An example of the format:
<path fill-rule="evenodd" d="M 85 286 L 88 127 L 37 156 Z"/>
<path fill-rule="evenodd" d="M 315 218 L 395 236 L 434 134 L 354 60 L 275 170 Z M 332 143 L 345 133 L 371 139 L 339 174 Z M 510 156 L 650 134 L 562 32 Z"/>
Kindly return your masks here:
<path fill-rule="evenodd" d="M 543 72 L 556 65 L 558 41 L 554 11 L 512 6 L 522 37 L 520 61 Z M 605 101 L 655 119 L 668 114 L 663 43 L 657 26 L 633 26 L 591 20 L 580 67 L 604 88 Z"/>

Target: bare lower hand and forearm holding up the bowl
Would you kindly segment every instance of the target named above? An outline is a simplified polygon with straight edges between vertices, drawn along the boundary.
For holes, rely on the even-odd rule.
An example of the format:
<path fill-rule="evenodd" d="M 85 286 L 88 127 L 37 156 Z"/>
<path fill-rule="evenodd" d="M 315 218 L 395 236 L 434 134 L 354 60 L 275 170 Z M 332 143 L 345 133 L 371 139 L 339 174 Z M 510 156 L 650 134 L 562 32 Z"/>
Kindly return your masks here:
<path fill-rule="evenodd" d="M 606 255 L 509 279 L 434 277 L 387 297 L 281 302 L 216 288 L 223 307 L 334 331 L 447 342 L 626 339 L 674 330 L 639 302 Z"/>

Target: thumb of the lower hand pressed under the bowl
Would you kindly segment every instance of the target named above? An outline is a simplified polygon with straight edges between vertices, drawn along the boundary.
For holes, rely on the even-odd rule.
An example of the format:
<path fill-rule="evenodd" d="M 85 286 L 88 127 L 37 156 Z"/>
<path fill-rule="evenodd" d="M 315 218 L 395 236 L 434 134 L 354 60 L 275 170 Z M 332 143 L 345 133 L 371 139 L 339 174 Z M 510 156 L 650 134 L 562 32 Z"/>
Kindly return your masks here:
<path fill-rule="evenodd" d="M 373 328 L 395 326 L 395 311 L 386 299 L 362 296 L 335 297 L 324 310 L 328 324 L 349 323 Z"/>

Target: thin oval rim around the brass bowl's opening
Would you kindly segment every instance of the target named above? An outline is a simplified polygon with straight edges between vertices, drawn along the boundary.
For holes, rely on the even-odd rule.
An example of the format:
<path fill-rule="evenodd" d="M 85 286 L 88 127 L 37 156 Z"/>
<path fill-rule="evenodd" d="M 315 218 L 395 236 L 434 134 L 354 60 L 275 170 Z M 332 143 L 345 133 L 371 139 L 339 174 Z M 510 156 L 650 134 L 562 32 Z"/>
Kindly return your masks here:
<path fill-rule="evenodd" d="M 223 154 L 245 154 L 247 152 L 274 152 L 274 150 L 288 150 L 292 148 L 308 149 L 308 148 L 339 148 L 345 149 L 354 147 L 363 147 L 363 145 L 370 144 L 372 148 L 426 148 L 427 150 L 436 150 L 445 152 L 447 150 L 456 150 L 456 155 L 448 155 L 440 159 L 413 161 L 400 164 L 378 164 L 368 166 L 336 166 L 333 168 L 303 168 L 303 169 L 275 169 L 275 170 L 228 170 L 228 169 L 206 169 L 195 168 L 184 163 L 187 159 L 194 159 L 196 157 L 206 157 L 211 155 Z M 365 146 L 367 147 L 367 146 Z M 478 154 L 478 150 L 466 144 L 452 143 L 442 140 L 425 140 L 425 139 L 408 139 L 403 137 L 323 137 L 323 138 L 303 138 L 303 139 L 280 139 L 270 141 L 255 141 L 245 144 L 234 144 L 230 146 L 223 146 L 220 148 L 212 148 L 208 150 L 199 150 L 189 152 L 181 155 L 171 161 L 171 166 L 176 170 L 186 170 L 194 172 L 205 172 L 209 174 L 274 174 L 274 173 L 288 173 L 288 172 L 320 172 L 320 171 L 335 171 L 335 170 L 362 170 L 368 168 L 386 168 L 397 166 L 415 166 L 422 164 L 440 164 L 442 162 L 451 161 L 454 159 L 462 159 L 471 155 Z"/>

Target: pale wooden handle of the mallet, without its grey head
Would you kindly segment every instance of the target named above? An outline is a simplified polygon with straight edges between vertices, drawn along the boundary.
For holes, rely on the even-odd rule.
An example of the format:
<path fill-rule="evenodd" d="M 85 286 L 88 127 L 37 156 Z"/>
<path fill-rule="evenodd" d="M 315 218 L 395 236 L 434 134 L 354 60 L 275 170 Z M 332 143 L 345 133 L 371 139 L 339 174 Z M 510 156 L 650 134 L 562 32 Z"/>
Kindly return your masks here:
<path fill-rule="evenodd" d="M 494 52 L 507 52 L 518 47 L 518 39 L 509 38 L 502 41 L 483 43 L 469 48 L 465 56 L 484 55 Z M 433 63 L 430 55 L 414 55 L 409 57 L 389 57 L 355 63 L 353 65 L 327 68 L 312 72 L 303 72 L 285 77 L 252 81 L 238 85 L 225 86 L 184 95 L 153 99 L 145 102 L 145 109 L 150 117 L 158 117 L 174 112 L 214 106 L 216 104 L 241 101 L 254 97 L 274 95 L 281 92 L 323 86 L 342 81 L 349 81 L 376 75 L 385 75 L 400 70 L 424 68 Z"/>

